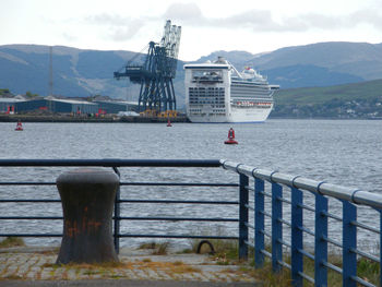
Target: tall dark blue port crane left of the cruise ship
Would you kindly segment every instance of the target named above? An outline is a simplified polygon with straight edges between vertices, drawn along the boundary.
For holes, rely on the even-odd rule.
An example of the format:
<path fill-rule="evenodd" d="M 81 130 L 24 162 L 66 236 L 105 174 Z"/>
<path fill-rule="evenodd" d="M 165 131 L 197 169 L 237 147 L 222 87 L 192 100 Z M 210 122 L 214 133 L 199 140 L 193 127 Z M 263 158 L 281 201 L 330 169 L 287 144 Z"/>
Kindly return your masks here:
<path fill-rule="evenodd" d="M 150 41 L 143 64 L 134 64 L 133 57 L 115 79 L 129 77 L 140 84 L 139 110 L 146 116 L 176 117 L 177 101 L 172 79 L 176 76 L 181 27 L 167 20 L 160 43 Z"/>

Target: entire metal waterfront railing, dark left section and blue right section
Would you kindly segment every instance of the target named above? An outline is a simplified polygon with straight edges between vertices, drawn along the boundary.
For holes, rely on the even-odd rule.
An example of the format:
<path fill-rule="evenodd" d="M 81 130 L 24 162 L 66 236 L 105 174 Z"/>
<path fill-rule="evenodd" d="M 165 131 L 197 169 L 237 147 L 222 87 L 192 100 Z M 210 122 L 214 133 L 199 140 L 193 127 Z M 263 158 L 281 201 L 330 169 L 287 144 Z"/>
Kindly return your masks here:
<path fill-rule="evenodd" d="M 0 159 L 0 167 L 110 167 L 118 176 L 120 167 L 176 167 L 176 168 L 216 168 L 235 171 L 239 175 L 238 183 L 226 182 L 147 182 L 121 181 L 120 188 L 131 187 L 187 187 L 187 188 L 236 188 L 237 200 L 167 200 L 167 199 L 121 199 L 117 193 L 114 214 L 114 236 L 117 251 L 121 238 L 193 238 L 193 239 L 234 239 L 239 241 L 239 256 L 248 258 L 249 248 L 254 250 L 255 267 L 263 266 L 266 258 L 272 262 L 274 272 L 288 268 L 291 272 L 294 286 L 302 286 L 305 282 L 314 286 L 327 286 L 327 273 L 334 271 L 343 278 L 343 286 L 374 286 L 357 275 L 357 261 L 360 258 L 379 264 L 381 274 L 382 253 L 362 251 L 358 248 L 358 230 L 368 230 L 377 235 L 381 244 L 382 195 L 315 181 L 300 176 L 291 176 L 278 171 L 253 168 L 228 160 L 187 160 L 187 159 Z M 0 179 L 1 180 L 1 179 Z M 1 186 L 55 186 L 56 182 L 40 181 L 0 181 Z M 309 202 L 308 196 L 312 196 Z M 338 201 L 342 215 L 330 212 L 330 201 Z M 60 200 L 40 199 L 0 199 L 3 203 L 57 203 Z M 124 203 L 150 204 L 203 204 L 238 206 L 237 217 L 175 217 L 175 216 L 121 216 Z M 311 203 L 311 204 L 309 204 Z M 290 212 L 285 213 L 284 206 Z M 357 220 L 357 212 L 361 206 L 375 211 L 377 226 Z M 1 205 L 0 205 L 1 208 Z M 313 214 L 313 226 L 306 223 L 305 213 Z M 289 218 L 290 217 L 290 218 Z M 61 216 L 1 216 L 2 220 L 62 220 Z M 123 220 L 160 220 L 160 222 L 210 222 L 235 223 L 238 236 L 195 236 L 171 234 L 123 234 L 120 224 Z M 329 222 L 339 223 L 342 241 L 330 237 Z M 284 232 L 285 228 L 288 232 Z M 250 232 L 252 230 L 253 232 Z M 286 236 L 287 234 L 288 236 Z M 313 240 L 312 249 L 306 248 L 306 236 Z M 60 234 L 11 234 L 1 232 L 0 237 L 61 237 Z M 289 237 L 289 238 L 287 238 Z M 268 243 L 268 244 L 267 244 Z M 342 251 L 342 264 L 335 265 L 329 260 L 329 246 Z M 290 255 L 290 260 L 286 254 Z M 303 271 L 305 259 L 314 262 L 314 275 Z M 379 284 L 382 286 L 381 276 Z"/>

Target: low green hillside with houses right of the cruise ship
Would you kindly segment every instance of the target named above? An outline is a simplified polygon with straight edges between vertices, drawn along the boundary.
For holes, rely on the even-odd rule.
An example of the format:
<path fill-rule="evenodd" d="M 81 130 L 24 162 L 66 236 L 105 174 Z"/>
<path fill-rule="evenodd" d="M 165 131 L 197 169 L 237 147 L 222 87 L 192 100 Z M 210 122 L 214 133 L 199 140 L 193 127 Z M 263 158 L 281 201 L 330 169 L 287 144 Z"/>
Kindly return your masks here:
<path fill-rule="evenodd" d="M 382 80 L 280 89 L 274 98 L 273 118 L 382 118 Z"/>

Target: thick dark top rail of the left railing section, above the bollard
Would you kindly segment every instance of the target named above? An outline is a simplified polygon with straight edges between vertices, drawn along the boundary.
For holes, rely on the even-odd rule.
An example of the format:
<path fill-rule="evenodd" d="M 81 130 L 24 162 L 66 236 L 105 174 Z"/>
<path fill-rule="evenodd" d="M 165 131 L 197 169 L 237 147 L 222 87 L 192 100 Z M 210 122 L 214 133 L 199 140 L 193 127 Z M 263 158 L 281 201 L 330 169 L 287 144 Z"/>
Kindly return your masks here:
<path fill-rule="evenodd" d="M 102 166 L 102 167 L 219 167 L 219 159 L 0 159 L 0 167 Z"/>

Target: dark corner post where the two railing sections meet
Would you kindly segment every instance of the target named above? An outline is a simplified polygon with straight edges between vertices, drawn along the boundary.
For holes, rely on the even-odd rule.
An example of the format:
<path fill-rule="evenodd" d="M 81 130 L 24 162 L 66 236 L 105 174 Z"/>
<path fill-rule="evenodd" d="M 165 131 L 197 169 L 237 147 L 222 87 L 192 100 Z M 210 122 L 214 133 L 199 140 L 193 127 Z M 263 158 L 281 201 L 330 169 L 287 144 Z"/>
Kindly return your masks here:
<path fill-rule="evenodd" d="M 246 175 L 240 175 L 240 211 L 239 211 L 239 259 L 248 259 L 248 184 Z"/>

